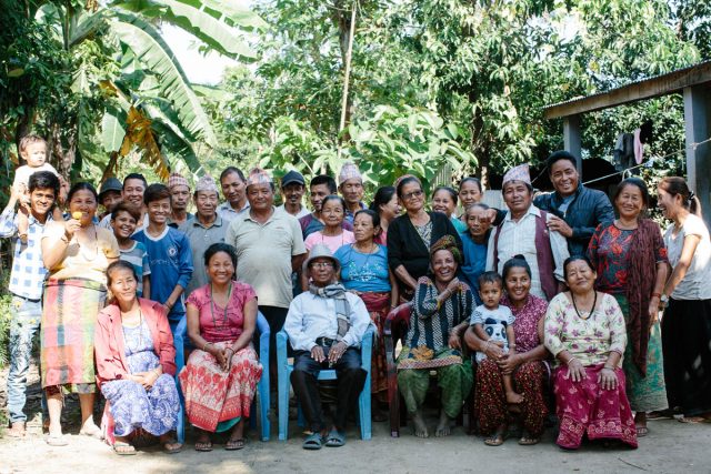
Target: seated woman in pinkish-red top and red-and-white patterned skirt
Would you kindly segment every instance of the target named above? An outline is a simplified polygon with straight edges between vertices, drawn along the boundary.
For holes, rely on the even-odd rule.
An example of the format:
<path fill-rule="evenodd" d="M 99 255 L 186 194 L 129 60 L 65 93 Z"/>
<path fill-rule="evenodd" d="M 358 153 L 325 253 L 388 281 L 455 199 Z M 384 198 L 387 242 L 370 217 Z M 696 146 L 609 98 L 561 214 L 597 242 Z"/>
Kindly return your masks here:
<path fill-rule="evenodd" d="M 211 451 L 210 433 L 232 430 L 224 448 L 244 447 L 249 418 L 262 366 L 252 347 L 257 326 L 254 290 L 233 281 L 237 253 L 213 243 L 204 252 L 208 283 L 188 297 L 188 336 L 194 350 L 180 372 L 188 421 L 199 431 L 197 451 Z"/>

